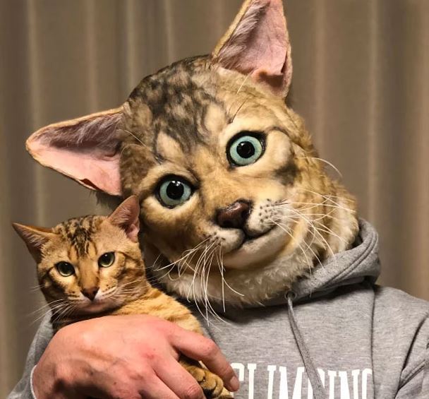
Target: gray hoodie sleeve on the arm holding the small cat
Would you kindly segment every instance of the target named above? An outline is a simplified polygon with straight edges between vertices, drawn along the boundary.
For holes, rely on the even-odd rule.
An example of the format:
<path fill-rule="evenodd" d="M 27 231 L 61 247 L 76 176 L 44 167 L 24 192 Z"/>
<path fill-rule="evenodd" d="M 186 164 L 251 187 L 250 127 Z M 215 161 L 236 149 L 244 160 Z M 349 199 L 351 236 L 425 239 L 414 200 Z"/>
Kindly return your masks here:
<path fill-rule="evenodd" d="M 40 324 L 28 351 L 23 376 L 16 384 L 16 387 L 13 388 L 13 391 L 9 393 L 7 399 L 35 399 L 32 391 L 32 371 L 52 338 L 53 332 L 49 321 L 50 318 L 51 315 L 48 314 Z"/>

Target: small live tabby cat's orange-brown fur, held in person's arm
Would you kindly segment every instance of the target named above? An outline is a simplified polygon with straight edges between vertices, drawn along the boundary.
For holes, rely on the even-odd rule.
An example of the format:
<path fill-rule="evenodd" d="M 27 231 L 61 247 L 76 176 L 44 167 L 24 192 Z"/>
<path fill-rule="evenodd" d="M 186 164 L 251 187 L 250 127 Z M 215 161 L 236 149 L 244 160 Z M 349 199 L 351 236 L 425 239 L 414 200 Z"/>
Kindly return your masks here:
<path fill-rule="evenodd" d="M 137 239 L 138 215 L 138 201 L 132 196 L 109 217 L 73 218 L 52 229 L 13 224 L 37 261 L 37 278 L 52 309 L 55 331 L 99 316 L 149 314 L 203 333 L 186 306 L 148 282 Z M 111 266 L 99 266 L 100 256 L 109 253 L 114 253 Z M 59 273 L 56 265 L 61 261 L 73 265 L 73 275 Z M 183 356 L 179 362 L 207 398 L 230 397 L 222 380 L 198 362 Z"/>

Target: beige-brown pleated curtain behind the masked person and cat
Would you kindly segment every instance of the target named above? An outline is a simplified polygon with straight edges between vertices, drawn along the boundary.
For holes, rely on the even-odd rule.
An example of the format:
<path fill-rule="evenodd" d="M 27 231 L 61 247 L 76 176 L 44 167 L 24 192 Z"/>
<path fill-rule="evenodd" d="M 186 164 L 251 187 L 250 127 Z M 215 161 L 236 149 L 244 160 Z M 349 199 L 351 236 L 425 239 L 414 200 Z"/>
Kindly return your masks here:
<path fill-rule="evenodd" d="M 119 105 L 140 78 L 214 47 L 241 0 L 0 0 L 0 397 L 42 301 L 11 221 L 100 212 L 36 165 L 38 127 Z M 286 0 L 293 106 L 381 236 L 382 282 L 429 299 L 429 1 Z M 334 172 L 333 172 L 334 173 Z"/>

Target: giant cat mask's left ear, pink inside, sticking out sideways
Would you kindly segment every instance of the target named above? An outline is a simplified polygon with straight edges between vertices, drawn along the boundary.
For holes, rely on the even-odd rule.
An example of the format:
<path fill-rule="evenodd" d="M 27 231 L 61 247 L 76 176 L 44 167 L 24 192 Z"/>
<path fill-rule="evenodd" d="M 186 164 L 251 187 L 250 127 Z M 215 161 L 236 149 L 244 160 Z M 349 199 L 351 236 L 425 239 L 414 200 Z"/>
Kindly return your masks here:
<path fill-rule="evenodd" d="M 45 126 L 27 140 L 42 165 L 90 189 L 121 195 L 119 132 L 122 107 Z"/>

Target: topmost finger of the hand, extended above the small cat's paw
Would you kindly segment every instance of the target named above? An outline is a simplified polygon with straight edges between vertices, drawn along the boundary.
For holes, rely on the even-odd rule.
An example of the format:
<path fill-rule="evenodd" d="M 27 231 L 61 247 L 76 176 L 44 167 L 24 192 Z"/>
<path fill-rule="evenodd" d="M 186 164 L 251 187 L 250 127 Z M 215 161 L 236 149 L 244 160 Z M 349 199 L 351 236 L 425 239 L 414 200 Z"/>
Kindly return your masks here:
<path fill-rule="evenodd" d="M 240 384 L 234 370 L 212 340 L 186 330 L 176 333 L 172 340 L 176 350 L 191 357 L 191 359 L 201 360 L 207 369 L 217 374 L 224 381 L 229 391 L 238 390 Z"/>

